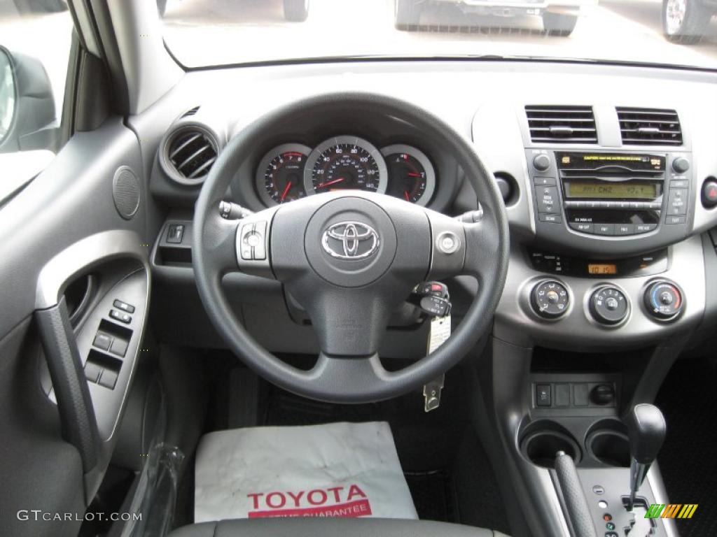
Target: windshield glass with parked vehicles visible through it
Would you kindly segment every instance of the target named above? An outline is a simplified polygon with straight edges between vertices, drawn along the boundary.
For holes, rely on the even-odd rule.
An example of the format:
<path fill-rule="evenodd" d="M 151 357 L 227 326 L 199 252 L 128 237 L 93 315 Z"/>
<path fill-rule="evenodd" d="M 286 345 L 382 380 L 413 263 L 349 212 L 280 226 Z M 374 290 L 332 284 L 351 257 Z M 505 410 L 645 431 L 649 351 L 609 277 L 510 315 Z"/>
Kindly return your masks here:
<path fill-rule="evenodd" d="M 717 0 L 157 0 L 186 67 L 558 57 L 717 67 Z"/>

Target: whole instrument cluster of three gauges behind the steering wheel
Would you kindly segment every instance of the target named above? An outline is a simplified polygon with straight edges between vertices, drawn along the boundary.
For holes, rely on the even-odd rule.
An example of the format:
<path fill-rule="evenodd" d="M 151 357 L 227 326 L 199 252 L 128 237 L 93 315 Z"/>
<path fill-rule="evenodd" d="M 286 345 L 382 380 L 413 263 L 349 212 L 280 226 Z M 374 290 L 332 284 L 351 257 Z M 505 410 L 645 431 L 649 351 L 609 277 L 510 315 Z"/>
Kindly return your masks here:
<path fill-rule="evenodd" d="M 260 160 L 256 187 L 268 205 L 333 190 L 366 190 L 427 205 L 436 188 L 429 158 L 411 145 L 381 150 L 356 136 L 332 137 L 313 148 L 286 143 Z"/>

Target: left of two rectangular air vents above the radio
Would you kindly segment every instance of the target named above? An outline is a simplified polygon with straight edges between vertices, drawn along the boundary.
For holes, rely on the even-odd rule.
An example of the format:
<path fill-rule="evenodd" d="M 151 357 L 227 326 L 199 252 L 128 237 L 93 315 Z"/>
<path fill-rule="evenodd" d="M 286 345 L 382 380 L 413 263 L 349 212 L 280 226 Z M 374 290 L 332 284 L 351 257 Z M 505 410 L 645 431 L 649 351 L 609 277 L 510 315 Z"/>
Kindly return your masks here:
<path fill-rule="evenodd" d="M 596 144 L 592 107 L 526 106 L 531 140 L 538 143 Z"/>

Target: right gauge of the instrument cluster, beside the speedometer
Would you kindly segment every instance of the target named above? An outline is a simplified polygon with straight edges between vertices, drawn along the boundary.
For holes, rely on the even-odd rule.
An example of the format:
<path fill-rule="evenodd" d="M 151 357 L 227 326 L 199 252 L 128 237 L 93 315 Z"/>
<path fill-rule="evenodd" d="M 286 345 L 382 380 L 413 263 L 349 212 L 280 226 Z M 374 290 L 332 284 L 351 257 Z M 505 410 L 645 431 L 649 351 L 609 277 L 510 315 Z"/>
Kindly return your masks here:
<path fill-rule="evenodd" d="M 436 188 L 436 173 L 428 157 L 410 145 L 389 145 L 381 155 L 389 169 L 386 194 L 427 205 Z"/>

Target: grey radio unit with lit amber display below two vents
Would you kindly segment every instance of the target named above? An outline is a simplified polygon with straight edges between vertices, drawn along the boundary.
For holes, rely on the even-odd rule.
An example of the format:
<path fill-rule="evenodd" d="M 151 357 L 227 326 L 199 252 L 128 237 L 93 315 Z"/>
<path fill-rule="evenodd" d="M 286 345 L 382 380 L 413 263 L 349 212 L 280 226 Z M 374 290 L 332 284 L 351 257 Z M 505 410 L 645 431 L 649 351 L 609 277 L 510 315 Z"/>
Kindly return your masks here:
<path fill-rule="evenodd" d="M 661 246 L 687 236 L 691 173 L 673 168 L 685 155 L 527 150 L 538 238 L 566 246 L 632 239 L 623 248 L 629 253 L 637 240 Z M 657 233 L 660 239 L 645 241 Z"/>

